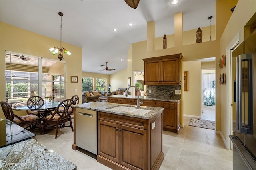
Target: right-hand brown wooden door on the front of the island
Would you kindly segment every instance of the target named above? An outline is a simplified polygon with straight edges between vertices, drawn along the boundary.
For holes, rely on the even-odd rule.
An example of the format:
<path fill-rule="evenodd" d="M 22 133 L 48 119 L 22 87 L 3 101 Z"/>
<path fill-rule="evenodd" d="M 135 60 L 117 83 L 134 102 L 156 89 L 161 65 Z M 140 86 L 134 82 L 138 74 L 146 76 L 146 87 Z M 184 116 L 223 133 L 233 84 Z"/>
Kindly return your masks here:
<path fill-rule="evenodd" d="M 125 125 L 119 125 L 118 131 L 120 131 L 120 164 L 130 169 L 148 169 L 147 131 Z"/>

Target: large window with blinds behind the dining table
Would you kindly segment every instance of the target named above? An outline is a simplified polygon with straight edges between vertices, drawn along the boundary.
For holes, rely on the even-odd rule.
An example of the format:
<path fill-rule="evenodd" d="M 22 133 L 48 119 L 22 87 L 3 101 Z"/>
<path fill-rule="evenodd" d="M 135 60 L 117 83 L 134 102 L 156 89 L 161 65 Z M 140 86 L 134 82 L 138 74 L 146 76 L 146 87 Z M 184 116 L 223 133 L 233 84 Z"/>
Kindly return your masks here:
<path fill-rule="evenodd" d="M 6 52 L 5 100 L 12 106 L 26 105 L 30 96 L 52 96 L 54 102 L 66 98 L 66 63 Z"/>

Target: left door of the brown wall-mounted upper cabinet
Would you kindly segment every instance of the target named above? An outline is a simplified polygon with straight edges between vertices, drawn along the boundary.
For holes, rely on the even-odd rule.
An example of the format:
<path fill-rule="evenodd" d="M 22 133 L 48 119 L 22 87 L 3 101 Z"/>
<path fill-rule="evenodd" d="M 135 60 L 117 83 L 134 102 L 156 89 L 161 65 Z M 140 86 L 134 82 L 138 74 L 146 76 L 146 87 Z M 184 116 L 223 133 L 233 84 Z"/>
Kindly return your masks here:
<path fill-rule="evenodd" d="M 160 78 L 160 61 L 146 61 L 144 62 L 145 84 L 158 84 Z"/>

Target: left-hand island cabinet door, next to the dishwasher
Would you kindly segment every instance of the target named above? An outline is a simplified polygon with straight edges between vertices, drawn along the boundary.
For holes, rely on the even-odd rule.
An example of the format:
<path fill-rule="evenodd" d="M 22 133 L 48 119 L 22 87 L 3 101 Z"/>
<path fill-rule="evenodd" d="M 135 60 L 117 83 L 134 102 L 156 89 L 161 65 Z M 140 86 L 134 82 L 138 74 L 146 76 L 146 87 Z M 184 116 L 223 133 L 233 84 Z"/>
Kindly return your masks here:
<path fill-rule="evenodd" d="M 118 132 L 118 124 L 98 120 L 98 154 L 114 162 L 120 161 Z"/>

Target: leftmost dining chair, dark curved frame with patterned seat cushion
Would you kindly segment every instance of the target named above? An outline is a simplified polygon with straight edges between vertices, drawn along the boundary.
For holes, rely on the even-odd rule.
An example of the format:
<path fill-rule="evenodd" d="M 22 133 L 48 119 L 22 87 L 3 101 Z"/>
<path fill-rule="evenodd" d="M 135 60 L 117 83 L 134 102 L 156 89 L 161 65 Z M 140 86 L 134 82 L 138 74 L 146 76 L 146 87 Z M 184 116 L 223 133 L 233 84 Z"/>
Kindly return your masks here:
<path fill-rule="evenodd" d="M 34 125 L 38 125 L 39 131 L 42 134 L 40 117 L 36 115 L 18 116 L 14 114 L 12 107 L 5 101 L 1 101 L 1 107 L 6 119 L 16 123 L 17 125 L 20 125 L 21 127 L 26 126 L 25 129 L 27 129 L 28 127 L 30 127 L 30 129 L 33 129 L 35 127 Z"/>

